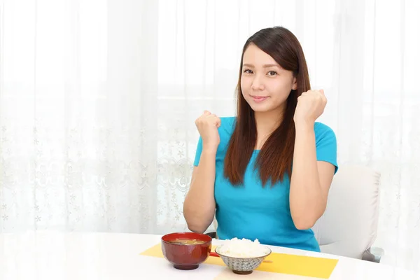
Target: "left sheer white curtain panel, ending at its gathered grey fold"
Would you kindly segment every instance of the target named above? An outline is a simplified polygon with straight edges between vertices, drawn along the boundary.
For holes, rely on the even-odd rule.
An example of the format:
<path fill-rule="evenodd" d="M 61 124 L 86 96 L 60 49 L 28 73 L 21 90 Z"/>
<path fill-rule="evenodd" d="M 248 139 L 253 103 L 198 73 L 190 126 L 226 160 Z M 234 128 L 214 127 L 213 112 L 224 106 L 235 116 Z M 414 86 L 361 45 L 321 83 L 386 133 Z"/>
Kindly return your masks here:
<path fill-rule="evenodd" d="M 3 232 L 155 229 L 150 13 L 154 1 L 1 2 Z"/>

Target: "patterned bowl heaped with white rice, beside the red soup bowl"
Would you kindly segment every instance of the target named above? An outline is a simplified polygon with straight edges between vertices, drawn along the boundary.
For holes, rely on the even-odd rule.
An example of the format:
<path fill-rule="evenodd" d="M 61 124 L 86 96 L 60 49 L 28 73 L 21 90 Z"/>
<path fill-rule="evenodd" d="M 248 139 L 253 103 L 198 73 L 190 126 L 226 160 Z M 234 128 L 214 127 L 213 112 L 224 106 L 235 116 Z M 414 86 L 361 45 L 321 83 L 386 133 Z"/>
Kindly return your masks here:
<path fill-rule="evenodd" d="M 258 239 L 225 240 L 225 243 L 216 248 L 225 265 L 236 274 L 251 274 L 253 270 L 261 265 L 261 262 L 272 253 L 267 246 L 260 244 Z"/>

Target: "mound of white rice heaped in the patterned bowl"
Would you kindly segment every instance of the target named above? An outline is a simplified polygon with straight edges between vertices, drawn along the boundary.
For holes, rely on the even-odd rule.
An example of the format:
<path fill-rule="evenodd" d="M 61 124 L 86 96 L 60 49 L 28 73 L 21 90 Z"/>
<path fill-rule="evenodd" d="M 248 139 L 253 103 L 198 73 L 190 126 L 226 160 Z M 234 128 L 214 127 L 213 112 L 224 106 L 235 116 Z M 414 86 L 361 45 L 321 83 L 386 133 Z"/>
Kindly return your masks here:
<path fill-rule="evenodd" d="M 251 241 L 249 239 L 233 239 L 225 240 L 225 243 L 218 248 L 218 252 L 222 255 L 228 255 L 234 258 L 256 258 L 266 255 L 269 251 L 265 246 L 260 244 L 258 239 Z"/>

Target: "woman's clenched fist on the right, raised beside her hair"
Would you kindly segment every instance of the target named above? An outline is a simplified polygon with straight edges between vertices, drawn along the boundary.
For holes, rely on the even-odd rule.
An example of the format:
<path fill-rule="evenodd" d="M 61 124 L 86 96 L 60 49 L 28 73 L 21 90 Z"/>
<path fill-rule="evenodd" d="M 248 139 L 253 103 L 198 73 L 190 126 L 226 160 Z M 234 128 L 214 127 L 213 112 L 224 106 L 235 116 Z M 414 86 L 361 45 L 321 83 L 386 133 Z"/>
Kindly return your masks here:
<path fill-rule="evenodd" d="M 315 120 L 322 115 L 327 98 L 323 90 L 308 90 L 297 97 L 297 106 L 293 120 L 295 123 L 315 123 Z"/>

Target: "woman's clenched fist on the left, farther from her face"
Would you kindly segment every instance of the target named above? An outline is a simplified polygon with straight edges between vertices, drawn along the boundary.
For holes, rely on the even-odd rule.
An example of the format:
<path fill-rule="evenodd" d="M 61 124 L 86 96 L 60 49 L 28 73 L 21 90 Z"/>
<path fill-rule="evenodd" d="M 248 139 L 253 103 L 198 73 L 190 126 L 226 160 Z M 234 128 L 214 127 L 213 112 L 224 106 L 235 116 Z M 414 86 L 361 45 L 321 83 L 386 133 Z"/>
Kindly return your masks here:
<path fill-rule="evenodd" d="M 221 126 L 221 119 L 209 111 L 204 111 L 202 116 L 195 120 L 195 125 L 203 141 L 203 150 L 211 149 L 216 151 L 221 138 L 218 134 L 218 127 Z"/>

